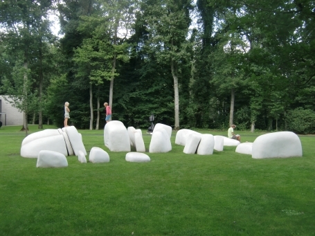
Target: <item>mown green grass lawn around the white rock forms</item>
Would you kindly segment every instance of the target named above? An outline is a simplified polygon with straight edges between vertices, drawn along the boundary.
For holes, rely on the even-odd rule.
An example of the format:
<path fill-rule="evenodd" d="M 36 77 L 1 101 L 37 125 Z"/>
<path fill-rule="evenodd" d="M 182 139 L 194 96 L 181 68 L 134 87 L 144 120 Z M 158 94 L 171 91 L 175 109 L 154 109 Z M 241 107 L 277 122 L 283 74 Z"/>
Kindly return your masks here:
<path fill-rule="evenodd" d="M 129 163 L 105 147 L 102 130 L 78 130 L 87 160 L 101 147 L 109 163 L 68 156 L 68 167 L 37 168 L 19 155 L 20 128 L 0 129 L 1 236 L 315 235 L 315 136 L 300 136 L 303 157 L 253 159 L 235 147 L 184 154 L 174 132 L 171 152 Z M 261 134 L 237 133 L 242 142 Z M 143 131 L 146 149 L 150 138 Z"/>

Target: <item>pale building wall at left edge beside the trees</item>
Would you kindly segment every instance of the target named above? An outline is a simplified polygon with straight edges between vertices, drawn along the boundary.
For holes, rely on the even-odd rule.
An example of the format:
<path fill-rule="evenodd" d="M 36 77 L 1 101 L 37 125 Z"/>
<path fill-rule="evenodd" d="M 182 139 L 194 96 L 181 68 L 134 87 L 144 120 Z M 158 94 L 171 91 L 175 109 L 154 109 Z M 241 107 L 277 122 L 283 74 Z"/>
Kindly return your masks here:
<path fill-rule="evenodd" d="M 6 113 L 6 125 L 23 125 L 23 112 L 19 111 L 15 107 L 12 107 L 10 102 L 5 100 L 4 97 L 10 100 L 8 96 L 0 95 L 2 113 L 0 115 L 0 120 L 2 122 L 2 125 L 5 125 L 5 115 L 3 113 Z"/>

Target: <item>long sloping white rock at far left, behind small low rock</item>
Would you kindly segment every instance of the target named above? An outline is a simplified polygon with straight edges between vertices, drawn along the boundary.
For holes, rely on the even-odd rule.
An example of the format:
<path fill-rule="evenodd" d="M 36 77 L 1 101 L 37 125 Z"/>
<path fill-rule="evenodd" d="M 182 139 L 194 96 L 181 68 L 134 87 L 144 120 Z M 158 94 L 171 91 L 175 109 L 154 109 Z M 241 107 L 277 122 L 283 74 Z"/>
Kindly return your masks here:
<path fill-rule="evenodd" d="M 57 129 L 55 129 L 57 131 Z M 35 133 L 34 133 L 35 134 Z M 37 138 L 21 146 L 21 156 L 28 158 L 37 158 L 42 150 L 54 151 L 68 156 L 64 136 L 61 134 Z"/>

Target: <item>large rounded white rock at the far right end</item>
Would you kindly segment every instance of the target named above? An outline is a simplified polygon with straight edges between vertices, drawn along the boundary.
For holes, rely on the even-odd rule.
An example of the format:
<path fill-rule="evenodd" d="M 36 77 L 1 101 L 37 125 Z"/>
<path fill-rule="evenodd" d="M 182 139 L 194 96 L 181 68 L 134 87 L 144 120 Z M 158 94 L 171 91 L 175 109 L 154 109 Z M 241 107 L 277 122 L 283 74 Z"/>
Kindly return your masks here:
<path fill-rule="evenodd" d="M 253 142 L 252 158 L 302 156 L 300 138 L 290 131 L 258 136 Z"/>

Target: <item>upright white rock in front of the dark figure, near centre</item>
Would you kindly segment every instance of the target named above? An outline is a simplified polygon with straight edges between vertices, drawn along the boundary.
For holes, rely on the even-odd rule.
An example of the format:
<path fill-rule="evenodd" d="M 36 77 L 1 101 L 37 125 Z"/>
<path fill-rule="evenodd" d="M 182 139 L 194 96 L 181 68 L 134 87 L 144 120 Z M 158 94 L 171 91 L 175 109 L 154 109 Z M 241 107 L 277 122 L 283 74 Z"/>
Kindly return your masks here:
<path fill-rule="evenodd" d="M 172 150 L 172 144 L 170 143 L 169 135 L 165 129 L 157 129 L 156 131 L 153 131 L 149 152 L 170 152 L 170 150 Z"/>

